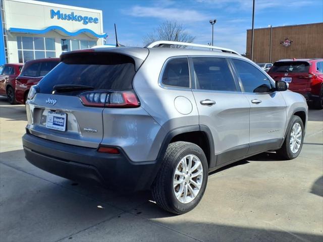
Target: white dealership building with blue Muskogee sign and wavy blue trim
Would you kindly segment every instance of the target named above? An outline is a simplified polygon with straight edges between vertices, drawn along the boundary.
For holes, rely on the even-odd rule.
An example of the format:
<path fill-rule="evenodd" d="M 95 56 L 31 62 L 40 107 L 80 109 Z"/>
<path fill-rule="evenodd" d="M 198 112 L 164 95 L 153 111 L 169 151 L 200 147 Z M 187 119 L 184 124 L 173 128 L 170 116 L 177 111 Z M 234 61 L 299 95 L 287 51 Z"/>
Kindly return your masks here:
<path fill-rule="evenodd" d="M 104 43 L 102 11 L 28 0 L 0 0 L 0 65 L 59 57 Z"/>

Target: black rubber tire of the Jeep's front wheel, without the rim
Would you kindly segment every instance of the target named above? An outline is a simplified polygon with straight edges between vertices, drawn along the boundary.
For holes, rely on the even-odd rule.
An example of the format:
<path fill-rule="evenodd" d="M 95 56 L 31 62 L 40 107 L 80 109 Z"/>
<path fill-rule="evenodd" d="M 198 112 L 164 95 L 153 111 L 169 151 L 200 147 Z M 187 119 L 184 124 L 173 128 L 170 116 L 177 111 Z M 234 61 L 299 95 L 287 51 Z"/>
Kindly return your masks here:
<path fill-rule="evenodd" d="M 292 152 L 292 149 L 290 147 L 290 137 L 291 137 L 292 128 L 293 128 L 293 126 L 296 123 L 300 124 L 300 126 L 301 126 L 301 129 L 302 129 L 302 135 L 301 135 L 302 140 L 301 140 L 301 144 L 300 144 L 300 147 L 299 147 L 298 151 L 296 153 L 293 153 Z M 299 155 L 299 153 L 301 152 L 301 150 L 302 150 L 303 141 L 304 141 L 304 125 L 303 125 L 303 121 L 302 121 L 302 119 L 299 116 L 293 115 L 292 118 L 291 118 L 291 120 L 290 120 L 289 126 L 287 128 L 287 134 L 286 134 L 286 137 L 285 137 L 284 144 L 277 151 L 277 154 L 279 156 L 281 156 L 283 159 L 286 159 L 286 160 L 295 159 Z"/>

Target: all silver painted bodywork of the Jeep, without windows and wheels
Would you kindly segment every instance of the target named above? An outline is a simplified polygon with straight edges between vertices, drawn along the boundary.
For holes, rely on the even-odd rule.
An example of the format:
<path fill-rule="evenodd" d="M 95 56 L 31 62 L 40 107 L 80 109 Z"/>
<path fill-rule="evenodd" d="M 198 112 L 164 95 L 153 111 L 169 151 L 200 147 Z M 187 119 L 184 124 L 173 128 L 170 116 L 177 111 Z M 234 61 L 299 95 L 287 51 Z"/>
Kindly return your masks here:
<path fill-rule="evenodd" d="M 155 160 L 167 133 L 177 128 L 206 125 L 213 136 L 214 153 L 220 154 L 252 142 L 283 138 L 295 111 L 304 111 L 307 116 L 305 99 L 291 91 L 272 94 L 192 91 L 158 84 L 167 59 L 177 56 L 239 58 L 261 70 L 249 59 L 236 54 L 176 48 L 121 47 L 104 51 L 124 53 L 143 62 L 133 80 L 141 106 L 120 109 L 86 107 L 75 96 L 38 93 L 26 104 L 27 129 L 31 134 L 92 148 L 97 148 L 100 143 L 118 146 L 133 162 L 139 162 Z M 48 98 L 57 99 L 55 106 L 45 102 Z M 261 102 L 252 102 L 255 99 Z M 48 110 L 67 113 L 66 132 L 44 127 L 43 119 Z M 97 133 L 84 130 L 88 128 L 97 130 Z"/>

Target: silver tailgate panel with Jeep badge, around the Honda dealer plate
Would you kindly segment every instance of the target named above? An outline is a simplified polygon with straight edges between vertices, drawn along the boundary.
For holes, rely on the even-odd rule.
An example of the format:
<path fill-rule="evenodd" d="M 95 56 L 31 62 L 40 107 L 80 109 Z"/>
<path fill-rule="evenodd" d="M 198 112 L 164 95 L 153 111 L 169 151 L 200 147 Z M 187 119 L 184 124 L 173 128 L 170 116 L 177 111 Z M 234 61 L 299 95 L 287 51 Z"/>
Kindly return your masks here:
<path fill-rule="evenodd" d="M 46 103 L 48 98 L 57 99 L 52 105 Z M 51 95 L 37 93 L 34 99 L 26 103 L 27 129 L 35 136 L 60 143 L 97 148 L 103 137 L 103 108 L 85 107 L 76 96 Z M 67 114 L 66 131 L 50 130 L 45 127 L 48 111 Z M 97 133 L 86 132 L 91 127 Z"/>

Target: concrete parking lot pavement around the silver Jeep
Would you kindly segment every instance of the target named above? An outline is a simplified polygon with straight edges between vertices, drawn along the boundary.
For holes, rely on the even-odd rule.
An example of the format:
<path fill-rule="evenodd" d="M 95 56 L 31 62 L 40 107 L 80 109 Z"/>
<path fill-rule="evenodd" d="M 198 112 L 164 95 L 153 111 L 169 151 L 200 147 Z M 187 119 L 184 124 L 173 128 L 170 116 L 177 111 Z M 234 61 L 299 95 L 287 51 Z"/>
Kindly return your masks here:
<path fill-rule="evenodd" d="M 31 165 L 25 106 L 0 97 L 0 241 L 323 241 L 323 111 L 308 119 L 297 159 L 263 153 L 212 173 L 201 203 L 174 216 L 149 192 L 111 192 Z"/>

